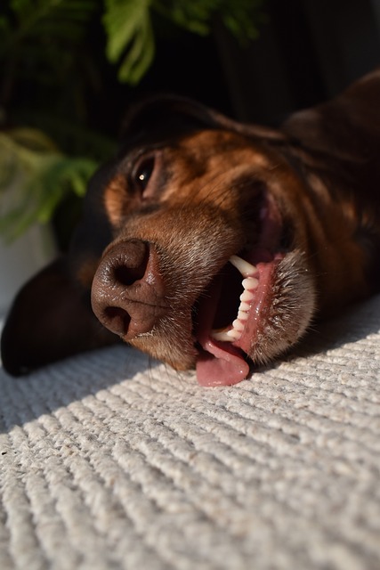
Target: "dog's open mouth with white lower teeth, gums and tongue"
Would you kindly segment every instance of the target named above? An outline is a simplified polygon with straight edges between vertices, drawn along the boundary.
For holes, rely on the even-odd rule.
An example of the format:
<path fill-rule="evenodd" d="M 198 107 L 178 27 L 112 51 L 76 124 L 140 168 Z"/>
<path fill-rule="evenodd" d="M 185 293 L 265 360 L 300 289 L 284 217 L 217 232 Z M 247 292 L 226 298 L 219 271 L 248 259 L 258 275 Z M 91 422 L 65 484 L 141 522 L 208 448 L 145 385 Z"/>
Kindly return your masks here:
<path fill-rule="evenodd" d="M 202 386 L 228 386 L 247 378 L 249 354 L 265 334 L 273 302 L 282 222 L 267 200 L 255 246 L 232 255 L 198 299 L 195 337 L 197 377 Z"/>

